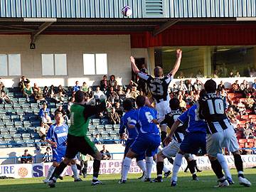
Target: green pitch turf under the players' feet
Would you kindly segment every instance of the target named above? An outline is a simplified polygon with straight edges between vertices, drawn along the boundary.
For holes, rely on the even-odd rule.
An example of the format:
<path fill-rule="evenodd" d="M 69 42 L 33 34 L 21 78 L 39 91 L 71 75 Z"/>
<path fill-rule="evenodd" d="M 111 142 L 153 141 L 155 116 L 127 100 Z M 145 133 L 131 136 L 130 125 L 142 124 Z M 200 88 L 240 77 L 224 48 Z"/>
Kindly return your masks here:
<path fill-rule="evenodd" d="M 73 182 L 73 178 L 65 176 L 63 181 L 56 183 L 55 188 L 48 188 L 46 184 L 42 182 L 43 178 L 21 178 L 21 179 L 6 179 L 0 180 L 0 191 L 11 192 L 11 191 L 22 191 L 22 192 L 38 192 L 38 191 L 61 191 L 61 192 L 85 192 L 85 191 L 103 191 L 103 192 L 114 192 L 114 191 L 222 191 L 222 192 L 256 192 L 256 169 L 246 169 L 245 175 L 250 179 L 252 186 L 247 188 L 238 184 L 238 178 L 235 174 L 235 170 L 232 170 L 233 179 L 235 185 L 229 186 L 228 188 L 214 188 L 216 184 L 216 178 L 213 176 L 212 171 L 203 171 L 198 173 L 200 181 L 191 181 L 191 175 L 188 173 L 180 172 L 178 174 L 178 186 L 171 187 L 169 178 L 164 178 L 163 183 L 142 183 L 137 179 L 140 174 L 129 174 L 129 180 L 125 184 L 118 184 L 117 181 L 120 178 L 119 174 L 102 175 L 100 180 L 105 183 L 102 186 L 90 186 L 92 176 L 85 178 L 83 182 Z M 156 174 L 152 174 L 154 178 Z"/>

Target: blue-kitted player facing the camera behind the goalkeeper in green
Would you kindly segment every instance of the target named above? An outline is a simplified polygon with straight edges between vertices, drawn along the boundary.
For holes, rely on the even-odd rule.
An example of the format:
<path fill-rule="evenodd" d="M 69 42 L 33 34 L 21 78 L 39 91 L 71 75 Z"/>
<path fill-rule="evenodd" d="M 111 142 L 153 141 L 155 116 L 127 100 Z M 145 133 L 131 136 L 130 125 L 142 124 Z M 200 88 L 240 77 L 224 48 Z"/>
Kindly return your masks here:
<path fill-rule="evenodd" d="M 48 169 L 48 175 L 46 176 L 46 179 L 43 180 L 44 183 L 48 183 L 50 176 L 53 174 L 53 171 L 57 166 L 59 166 L 60 161 L 65 156 L 65 151 L 67 148 L 68 125 L 64 124 L 63 122 L 63 114 L 61 112 L 56 113 L 55 124 L 50 126 L 50 129 L 46 135 L 46 142 L 50 144 L 53 151 L 53 164 Z M 78 169 L 75 161 L 71 162 L 71 169 L 73 171 L 75 181 L 82 181 L 82 179 L 78 176 Z"/>

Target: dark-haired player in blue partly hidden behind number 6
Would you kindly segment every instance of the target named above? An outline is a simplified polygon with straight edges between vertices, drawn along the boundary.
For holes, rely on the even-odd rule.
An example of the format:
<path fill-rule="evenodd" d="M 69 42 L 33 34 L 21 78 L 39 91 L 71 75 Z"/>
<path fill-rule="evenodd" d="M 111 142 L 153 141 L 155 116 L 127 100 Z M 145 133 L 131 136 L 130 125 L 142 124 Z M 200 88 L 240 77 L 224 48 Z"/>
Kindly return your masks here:
<path fill-rule="evenodd" d="M 127 142 L 125 143 L 124 158 L 128 153 L 130 146 L 133 144 L 134 140 L 136 139 L 136 137 L 138 137 L 139 134 L 137 128 L 129 128 L 130 122 L 132 121 L 132 119 L 134 119 L 134 115 L 136 115 L 136 110 L 133 109 L 133 106 L 134 103 L 131 99 L 127 98 L 124 100 L 123 107 L 125 114 L 121 118 L 119 128 L 119 135 L 121 138 L 124 137 L 125 132 L 127 132 L 128 135 Z M 142 169 L 144 175 L 146 171 L 146 166 L 143 159 L 145 159 L 145 154 L 139 154 L 136 156 L 137 165 L 140 169 Z M 125 183 L 125 180 L 121 178 L 119 183 Z"/>

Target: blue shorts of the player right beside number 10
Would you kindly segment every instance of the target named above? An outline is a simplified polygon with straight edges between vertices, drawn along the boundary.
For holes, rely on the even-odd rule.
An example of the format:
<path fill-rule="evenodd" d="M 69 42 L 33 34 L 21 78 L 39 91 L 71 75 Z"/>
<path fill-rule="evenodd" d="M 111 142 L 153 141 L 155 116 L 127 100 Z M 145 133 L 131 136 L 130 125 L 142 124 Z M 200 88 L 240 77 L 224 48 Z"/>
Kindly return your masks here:
<path fill-rule="evenodd" d="M 198 154 L 199 149 L 206 154 L 206 134 L 192 132 L 185 135 L 180 146 L 181 151 L 186 154 Z"/>

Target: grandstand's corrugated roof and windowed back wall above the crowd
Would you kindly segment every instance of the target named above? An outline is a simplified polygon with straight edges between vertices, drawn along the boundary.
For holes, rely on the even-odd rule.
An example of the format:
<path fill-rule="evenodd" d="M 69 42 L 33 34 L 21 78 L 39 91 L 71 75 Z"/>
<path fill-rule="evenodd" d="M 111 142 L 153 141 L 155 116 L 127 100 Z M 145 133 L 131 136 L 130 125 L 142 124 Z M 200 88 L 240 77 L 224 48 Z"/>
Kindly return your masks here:
<path fill-rule="evenodd" d="M 102 75 L 114 74 L 124 85 L 131 78 L 130 55 L 143 59 L 149 73 L 155 65 L 167 71 L 177 47 L 183 49 L 181 78 L 211 77 L 218 69 L 221 78 L 230 70 L 246 76 L 245 68 L 256 66 L 255 1 L 36 2 L 0 1 L 0 76 L 6 87 L 21 75 L 41 86 L 75 80 L 98 85 Z M 124 6 L 132 16 L 122 15 Z"/>

